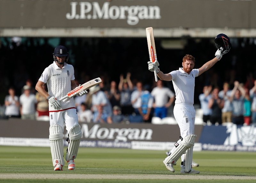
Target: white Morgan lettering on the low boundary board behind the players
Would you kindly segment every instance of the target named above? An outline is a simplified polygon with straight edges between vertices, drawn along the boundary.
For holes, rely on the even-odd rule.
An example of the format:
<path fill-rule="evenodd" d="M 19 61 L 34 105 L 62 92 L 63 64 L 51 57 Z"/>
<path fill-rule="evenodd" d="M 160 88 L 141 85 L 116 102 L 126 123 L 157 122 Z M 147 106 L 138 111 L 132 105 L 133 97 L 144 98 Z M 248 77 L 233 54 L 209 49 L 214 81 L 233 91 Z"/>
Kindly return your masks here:
<path fill-rule="evenodd" d="M 95 124 L 89 129 L 87 124 L 81 125 L 82 138 L 114 140 L 115 142 L 128 140 L 151 140 L 152 129 L 139 128 L 105 128 Z"/>

